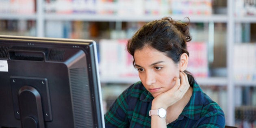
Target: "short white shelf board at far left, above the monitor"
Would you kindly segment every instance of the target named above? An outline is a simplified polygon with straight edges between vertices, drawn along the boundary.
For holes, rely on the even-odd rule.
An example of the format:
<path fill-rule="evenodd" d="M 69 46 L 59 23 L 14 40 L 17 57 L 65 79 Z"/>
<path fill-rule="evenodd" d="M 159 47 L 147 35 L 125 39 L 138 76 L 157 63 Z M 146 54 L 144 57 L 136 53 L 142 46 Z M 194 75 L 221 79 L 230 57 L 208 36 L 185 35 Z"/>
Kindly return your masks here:
<path fill-rule="evenodd" d="M 36 14 L 7 14 L 0 13 L 0 20 L 36 20 Z"/>

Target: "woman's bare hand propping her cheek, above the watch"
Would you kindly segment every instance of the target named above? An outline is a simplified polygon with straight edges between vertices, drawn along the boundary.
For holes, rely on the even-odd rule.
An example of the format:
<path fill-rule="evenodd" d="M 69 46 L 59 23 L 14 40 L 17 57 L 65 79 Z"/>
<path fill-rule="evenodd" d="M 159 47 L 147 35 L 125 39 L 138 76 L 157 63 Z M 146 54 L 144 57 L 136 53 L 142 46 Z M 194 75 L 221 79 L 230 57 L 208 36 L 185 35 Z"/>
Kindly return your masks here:
<path fill-rule="evenodd" d="M 154 98 L 151 109 L 165 108 L 166 110 L 182 99 L 190 87 L 187 74 L 180 72 L 180 78 L 174 78 L 174 81 L 176 83 L 173 88 Z"/>

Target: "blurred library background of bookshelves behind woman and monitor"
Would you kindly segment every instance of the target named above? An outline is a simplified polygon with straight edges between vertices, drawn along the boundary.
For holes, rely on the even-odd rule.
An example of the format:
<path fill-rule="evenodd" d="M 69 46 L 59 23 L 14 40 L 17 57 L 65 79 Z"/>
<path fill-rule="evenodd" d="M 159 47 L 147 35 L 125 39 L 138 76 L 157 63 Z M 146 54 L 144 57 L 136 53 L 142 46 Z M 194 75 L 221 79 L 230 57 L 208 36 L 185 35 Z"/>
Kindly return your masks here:
<path fill-rule="evenodd" d="M 166 16 L 189 17 L 188 71 L 226 124 L 256 128 L 256 0 L 0 0 L 0 35 L 95 40 L 106 111 L 139 80 L 127 40 Z"/>

